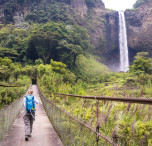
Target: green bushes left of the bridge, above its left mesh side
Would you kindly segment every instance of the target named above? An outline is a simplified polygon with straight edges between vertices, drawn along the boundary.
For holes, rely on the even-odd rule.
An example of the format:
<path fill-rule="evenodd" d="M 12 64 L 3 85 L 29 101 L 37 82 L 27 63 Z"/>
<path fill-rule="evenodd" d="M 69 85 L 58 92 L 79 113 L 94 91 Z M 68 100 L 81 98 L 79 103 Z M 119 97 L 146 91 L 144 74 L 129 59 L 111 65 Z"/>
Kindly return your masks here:
<path fill-rule="evenodd" d="M 0 109 L 25 93 L 31 84 L 27 75 L 28 68 L 22 68 L 21 64 L 13 63 L 6 57 L 0 57 Z"/>

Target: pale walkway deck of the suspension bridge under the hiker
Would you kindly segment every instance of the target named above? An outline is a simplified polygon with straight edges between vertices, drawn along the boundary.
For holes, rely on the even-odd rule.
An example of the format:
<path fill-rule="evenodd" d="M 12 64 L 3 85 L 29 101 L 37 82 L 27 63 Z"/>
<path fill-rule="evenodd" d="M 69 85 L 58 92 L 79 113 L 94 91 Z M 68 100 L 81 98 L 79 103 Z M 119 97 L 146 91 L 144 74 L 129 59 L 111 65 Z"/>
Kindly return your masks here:
<path fill-rule="evenodd" d="M 36 85 L 32 86 L 34 96 L 41 102 Z M 8 134 L 0 142 L 0 146 L 63 146 L 52 127 L 42 104 L 36 106 L 36 120 L 33 125 L 32 137 L 24 139 L 23 112 L 20 112 Z"/>

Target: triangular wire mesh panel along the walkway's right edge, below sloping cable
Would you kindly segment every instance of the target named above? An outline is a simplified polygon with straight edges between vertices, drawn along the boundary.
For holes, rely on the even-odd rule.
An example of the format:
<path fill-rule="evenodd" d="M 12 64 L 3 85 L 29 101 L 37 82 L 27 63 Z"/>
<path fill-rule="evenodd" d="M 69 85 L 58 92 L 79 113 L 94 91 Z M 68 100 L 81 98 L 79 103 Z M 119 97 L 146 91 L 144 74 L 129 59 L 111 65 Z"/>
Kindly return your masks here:
<path fill-rule="evenodd" d="M 65 146 L 117 146 L 116 140 L 113 142 L 99 132 L 99 125 L 90 127 L 48 100 L 38 89 L 45 111 Z"/>

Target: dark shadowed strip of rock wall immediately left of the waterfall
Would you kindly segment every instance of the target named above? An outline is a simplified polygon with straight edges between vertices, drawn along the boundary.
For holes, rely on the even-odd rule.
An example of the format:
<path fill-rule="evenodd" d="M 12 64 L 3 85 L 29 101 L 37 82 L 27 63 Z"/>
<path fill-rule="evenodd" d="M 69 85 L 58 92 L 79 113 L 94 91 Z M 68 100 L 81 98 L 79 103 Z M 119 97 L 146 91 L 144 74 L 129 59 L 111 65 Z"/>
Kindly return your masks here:
<path fill-rule="evenodd" d="M 119 69 L 120 51 L 119 51 L 119 16 L 118 12 L 110 12 L 105 15 L 106 18 L 106 50 L 105 64 L 111 69 Z"/>

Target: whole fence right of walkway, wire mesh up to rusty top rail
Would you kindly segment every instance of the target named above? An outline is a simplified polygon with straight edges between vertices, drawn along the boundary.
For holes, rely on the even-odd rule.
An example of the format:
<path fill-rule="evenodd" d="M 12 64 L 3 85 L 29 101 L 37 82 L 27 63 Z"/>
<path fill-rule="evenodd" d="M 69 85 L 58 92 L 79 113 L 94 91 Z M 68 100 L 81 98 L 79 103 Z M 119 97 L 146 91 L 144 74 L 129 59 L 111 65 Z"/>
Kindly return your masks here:
<path fill-rule="evenodd" d="M 40 91 L 50 121 L 64 145 L 147 146 L 151 141 L 150 98 L 50 95 L 48 100 Z"/>

